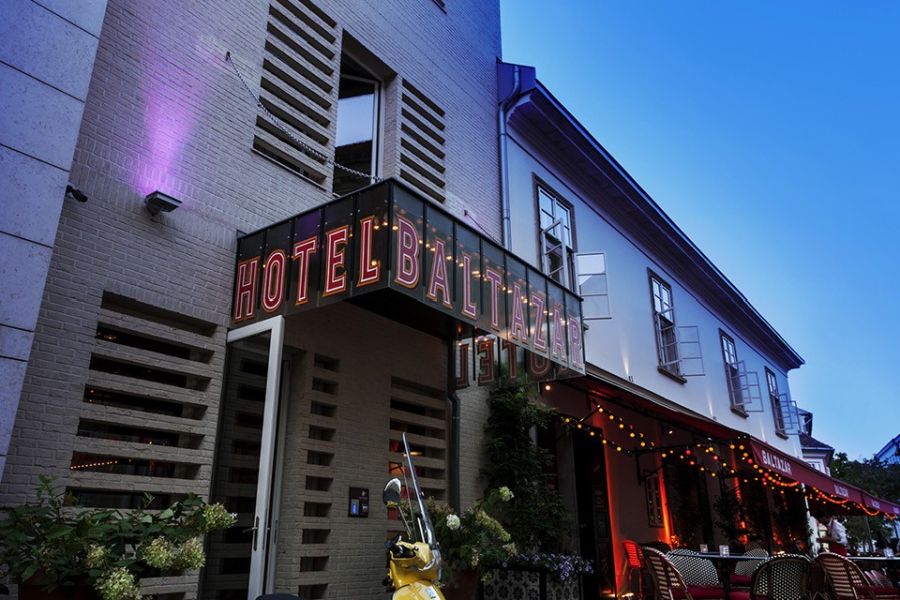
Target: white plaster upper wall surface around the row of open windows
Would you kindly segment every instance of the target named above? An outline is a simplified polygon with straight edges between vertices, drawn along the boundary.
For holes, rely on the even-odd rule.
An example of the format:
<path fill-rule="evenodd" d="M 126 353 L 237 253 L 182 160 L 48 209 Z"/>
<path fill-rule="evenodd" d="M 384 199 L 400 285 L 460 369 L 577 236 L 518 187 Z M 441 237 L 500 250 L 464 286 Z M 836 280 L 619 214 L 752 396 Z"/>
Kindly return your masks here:
<path fill-rule="evenodd" d="M 520 138 L 514 138 L 509 145 L 512 250 L 532 264 L 538 264 L 536 175 L 574 206 L 576 250 L 606 253 L 612 318 L 588 322 L 590 329 L 585 333 L 588 362 L 622 379 L 631 378 L 646 390 L 799 456 L 796 436 L 785 439 L 775 433 L 764 369 L 768 367 L 776 374 L 780 393 L 789 393 L 787 374 L 748 343 L 736 327 L 716 314 L 693 290 L 683 285 L 665 266 L 664 259 L 653 256 L 623 234 L 597 206 L 590 191 L 580 190 L 559 178 L 538 162 L 535 157 L 539 156 L 539 150 L 529 147 Z M 698 326 L 705 375 L 689 377 L 686 383 L 680 383 L 657 369 L 648 269 L 671 285 L 676 324 Z M 762 412 L 743 417 L 731 410 L 720 329 L 734 339 L 738 359 L 745 361 L 747 370 L 758 373 Z"/>

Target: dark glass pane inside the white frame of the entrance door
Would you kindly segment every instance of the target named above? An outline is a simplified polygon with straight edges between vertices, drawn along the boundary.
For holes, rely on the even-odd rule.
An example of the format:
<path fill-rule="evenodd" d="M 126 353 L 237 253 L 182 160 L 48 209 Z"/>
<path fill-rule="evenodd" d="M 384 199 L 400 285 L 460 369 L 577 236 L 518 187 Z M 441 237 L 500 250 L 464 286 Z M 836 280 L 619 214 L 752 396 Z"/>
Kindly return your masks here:
<path fill-rule="evenodd" d="M 207 536 L 202 597 L 208 600 L 247 597 L 254 540 L 261 543 L 257 535 L 263 527 L 253 528 L 270 339 L 266 332 L 228 346 L 210 498 L 237 513 L 238 520 Z"/>

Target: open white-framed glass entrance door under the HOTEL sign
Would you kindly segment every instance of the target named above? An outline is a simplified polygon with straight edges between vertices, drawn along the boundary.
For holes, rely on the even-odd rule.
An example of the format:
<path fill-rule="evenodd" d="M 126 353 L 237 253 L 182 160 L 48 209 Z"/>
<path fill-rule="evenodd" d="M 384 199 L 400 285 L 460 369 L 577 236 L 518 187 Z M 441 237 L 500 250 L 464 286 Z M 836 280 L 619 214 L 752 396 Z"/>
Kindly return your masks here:
<path fill-rule="evenodd" d="M 208 600 L 253 600 L 270 587 L 283 342 L 280 316 L 228 333 L 211 500 L 238 520 L 209 536 L 202 587 Z"/>

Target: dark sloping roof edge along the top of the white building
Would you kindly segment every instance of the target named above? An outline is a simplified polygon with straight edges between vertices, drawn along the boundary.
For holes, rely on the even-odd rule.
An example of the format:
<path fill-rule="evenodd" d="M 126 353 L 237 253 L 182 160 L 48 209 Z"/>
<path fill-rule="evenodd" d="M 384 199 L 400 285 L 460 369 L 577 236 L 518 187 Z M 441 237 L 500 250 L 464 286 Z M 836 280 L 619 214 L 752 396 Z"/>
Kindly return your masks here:
<path fill-rule="evenodd" d="M 512 65 L 512 63 L 503 63 Z M 725 276 L 724 273 L 703 253 L 702 250 L 681 230 L 680 227 L 672 220 L 669 215 L 650 197 L 650 194 L 644 190 L 640 184 L 625 170 L 625 168 L 615 159 L 615 157 L 610 154 L 606 148 L 603 147 L 600 142 L 598 142 L 590 131 L 587 130 L 579 121 L 575 118 L 572 113 L 560 102 L 547 87 L 541 83 L 540 80 L 535 81 L 535 86 L 528 93 L 534 93 L 534 91 L 539 92 L 544 98 L 546 98 L 556 110 L 563 116 L 565 119 L 581 134 L 581 136 L 593 147 L 593 149 L 598 152 L 603 159 L 612 166 L 616 173 L 622 177 L 631 188 L 637 192 L 640 199 L 643 200 L 647 206 L 649 206 L 653 210 L 653 216 L 663 225 L 671 228 L 678 235 L 678 242 L 682 245 L 682 247 L 688 251 L 689 254 L 693 254 L 698 258 L 704 266 L 709 268 L 718 280 L 725 286 L 728 292 L 736 296 L 738 301 L 751 313 L 751 315 L 762 324 L 762 328 L 767 331 L 767 333 L 773 338 L 773 340 L 780 345 L 786 352 L 790 359 L 793 359 L 795 364 L 794 368 L 797 368 L 806 363 L 803 360 L 803 357 L 781 336 L 780 333 L 769 323 L 762 314 L 756 310 L 746 296 L 735 286 L 728 277 Z"/>

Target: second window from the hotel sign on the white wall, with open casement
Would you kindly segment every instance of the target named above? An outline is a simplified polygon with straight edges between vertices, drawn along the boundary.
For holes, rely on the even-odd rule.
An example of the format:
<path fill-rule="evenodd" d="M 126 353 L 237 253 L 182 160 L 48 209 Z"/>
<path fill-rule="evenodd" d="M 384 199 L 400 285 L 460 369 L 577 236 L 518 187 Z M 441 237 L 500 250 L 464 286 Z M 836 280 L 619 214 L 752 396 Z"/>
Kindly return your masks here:
<path fill-rule="evenodd" d="M 672 288 L 652 272 L 650 295 L 659 369 L 676 378 L 703 375 L 700 330 L 696 325 L 676 325 Z"/>

